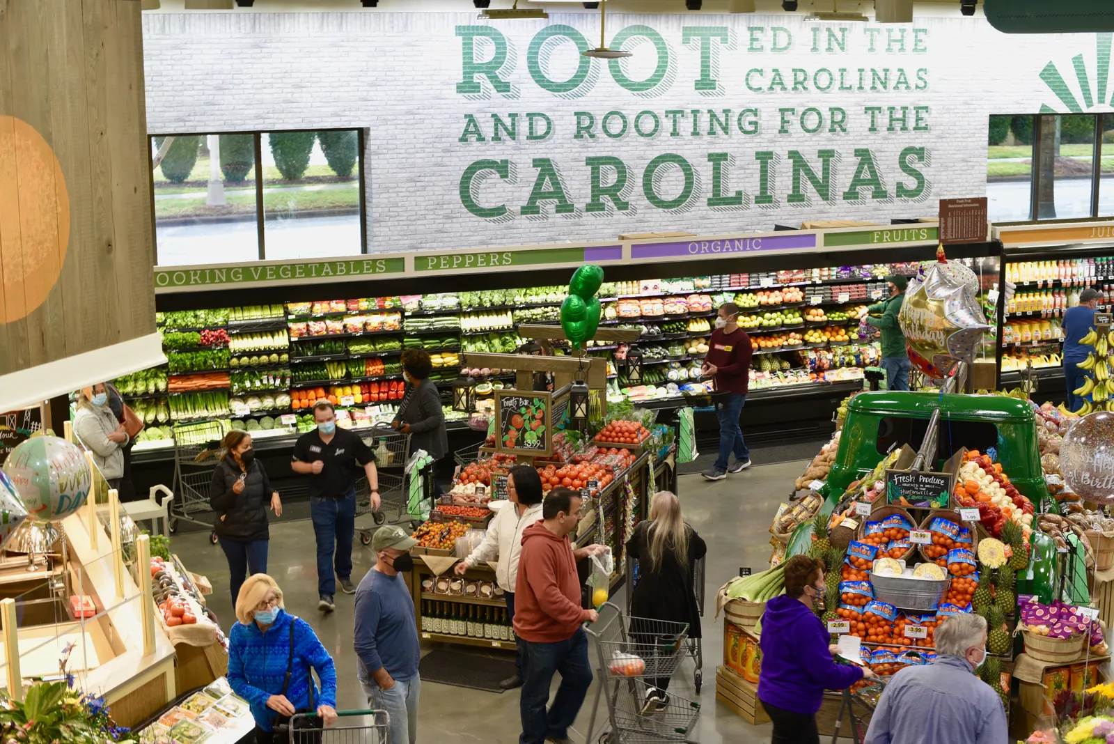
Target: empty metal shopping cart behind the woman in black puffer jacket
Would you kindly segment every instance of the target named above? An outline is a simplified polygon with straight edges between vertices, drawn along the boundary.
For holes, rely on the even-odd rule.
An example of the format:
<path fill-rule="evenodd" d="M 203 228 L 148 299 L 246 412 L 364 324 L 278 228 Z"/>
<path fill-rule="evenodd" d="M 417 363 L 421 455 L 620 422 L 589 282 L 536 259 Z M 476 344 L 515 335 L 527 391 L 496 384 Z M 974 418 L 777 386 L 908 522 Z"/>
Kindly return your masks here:
<path fill-rule="evenodd" d="M 212 511 L 209 484 L 219 461 L 221 438 L 227 433 L 227 427 L 219 421 L 196 421 L 175 423 L 170 431 L 174 437 L 174 500 L 168 529 L 177 531 L 178 520 L 202 525 L 209 528 L 209 542 L 216 545 L 213 522 L 190 515 Z"/>

